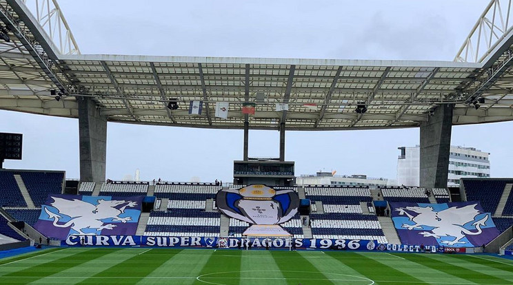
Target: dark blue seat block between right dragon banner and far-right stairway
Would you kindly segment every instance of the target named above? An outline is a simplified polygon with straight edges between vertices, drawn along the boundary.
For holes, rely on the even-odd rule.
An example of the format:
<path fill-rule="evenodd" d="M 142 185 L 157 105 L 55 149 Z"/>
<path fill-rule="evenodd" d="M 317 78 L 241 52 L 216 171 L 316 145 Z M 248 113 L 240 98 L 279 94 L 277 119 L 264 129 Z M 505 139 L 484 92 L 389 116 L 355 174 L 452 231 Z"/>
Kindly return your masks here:
<path fill-rule="evenodd" d="M 495 213 L 508 181 L 462 179 L 461 182 L 465 187 L 467 201 L 479 201 L 485 211 Z"/>

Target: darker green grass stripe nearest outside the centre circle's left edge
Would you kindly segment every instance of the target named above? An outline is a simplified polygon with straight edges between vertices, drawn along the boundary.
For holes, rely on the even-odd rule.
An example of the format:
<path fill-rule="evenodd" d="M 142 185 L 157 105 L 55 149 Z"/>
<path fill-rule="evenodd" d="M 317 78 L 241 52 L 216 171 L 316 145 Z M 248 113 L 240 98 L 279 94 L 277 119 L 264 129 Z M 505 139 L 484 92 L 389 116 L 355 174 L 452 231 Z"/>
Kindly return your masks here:
<path fill-rule="evenodd" d="M 103 266 L 103 271 L 79 282 L 77 284 L 98 284 L 101 277 L 117 276 L 115 284 L 137 284 L 139 280 L 161 266 L 179 251 L 170 251 L 168 254 L 151 254 L 147 248 L 125 249 L 125 259 L 114 262 L 110 266 Z M 141 253 L 141 254 L 139 254 Z"/>

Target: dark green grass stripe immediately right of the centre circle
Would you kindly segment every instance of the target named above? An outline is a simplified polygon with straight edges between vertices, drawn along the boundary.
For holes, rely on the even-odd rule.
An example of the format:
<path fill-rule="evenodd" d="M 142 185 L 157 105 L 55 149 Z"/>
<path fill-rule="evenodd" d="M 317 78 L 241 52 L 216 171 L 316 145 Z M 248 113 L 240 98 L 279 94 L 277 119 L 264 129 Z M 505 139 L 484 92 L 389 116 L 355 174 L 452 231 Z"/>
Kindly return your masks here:
<path fill-rule="evenodd" d="M 354 271 L 358 271 L 361 275 L 366 276 L 376 281 L 377 284 L 394 284 L 395 282 L 401 282 L 401 284 L 429 284 L 423 282 L 408 273 L 403 273 L 392 266 L 382 264 L 373 260 L 372 258 L 366 257 L 356 252 L 340 253 L 336 251 L 326 252 L 327 255 L 336 258 L 343 264 L 351 267 Z M 350 257 L 347 260 L 344 257 Z M 360 258 L 355 258 L 360 257 Z"/>

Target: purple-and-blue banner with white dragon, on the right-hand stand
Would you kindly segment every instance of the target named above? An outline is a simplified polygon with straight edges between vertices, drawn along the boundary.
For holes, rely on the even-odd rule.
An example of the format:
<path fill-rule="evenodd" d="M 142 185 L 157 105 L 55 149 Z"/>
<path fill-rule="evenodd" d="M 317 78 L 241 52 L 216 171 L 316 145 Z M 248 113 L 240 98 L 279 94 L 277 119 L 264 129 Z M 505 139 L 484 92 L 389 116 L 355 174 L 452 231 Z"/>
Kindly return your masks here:
<path fill-rule="evenodd" d="M 390 202 L 390 209 L 403 244 L 476 247 L 499 235 L 479 202 Z"/>

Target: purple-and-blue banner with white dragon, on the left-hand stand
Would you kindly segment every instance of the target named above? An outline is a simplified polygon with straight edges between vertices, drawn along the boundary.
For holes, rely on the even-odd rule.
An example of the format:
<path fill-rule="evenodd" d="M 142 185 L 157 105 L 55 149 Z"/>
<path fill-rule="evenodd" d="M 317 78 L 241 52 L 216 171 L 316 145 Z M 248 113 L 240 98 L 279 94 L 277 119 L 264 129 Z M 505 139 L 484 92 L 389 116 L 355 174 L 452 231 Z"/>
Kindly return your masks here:
<path fill-rule="evenodd" d="M 134 235 L 143 196 L 111 197 L 51 194 L 34 228 L 48 237 Z"/>

